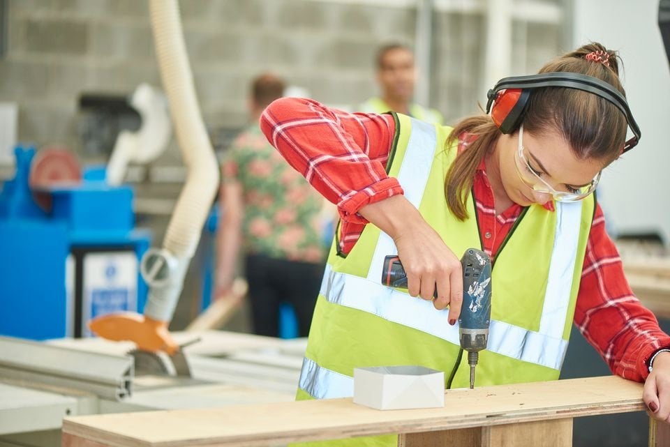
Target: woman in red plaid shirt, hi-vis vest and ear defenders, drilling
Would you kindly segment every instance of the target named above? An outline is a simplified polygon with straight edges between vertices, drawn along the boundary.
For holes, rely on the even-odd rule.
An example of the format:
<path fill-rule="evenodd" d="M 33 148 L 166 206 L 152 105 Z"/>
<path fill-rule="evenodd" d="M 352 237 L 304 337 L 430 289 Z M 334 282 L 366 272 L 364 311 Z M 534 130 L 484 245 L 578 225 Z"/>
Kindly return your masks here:
<path fill-rule="evenodd" d="M 493 259 L 494 292 L 477 386 L 558 379 L 574 320 L 615 374 L 645 381 L 651 414 L 668 419 L 670 337 L 632 294 L 593 194 L 602 169 L 639 137 L 617 58 L 584 45 L 540 70 L 551 82 L 502 82 L 493 117 L 453 129 L 295 98 L 265 110 L 271 144 L 341 214 L 299 399 L 351 395 L 356 367 L 454 370 L 459 257 L 481 247 Z M 627 125 L 636 137 L 625 142 Z M 379 284 L 382 259 L 396 250 L 408 294 Z M 453 386 L 467 384 L 459 368 Z"/>

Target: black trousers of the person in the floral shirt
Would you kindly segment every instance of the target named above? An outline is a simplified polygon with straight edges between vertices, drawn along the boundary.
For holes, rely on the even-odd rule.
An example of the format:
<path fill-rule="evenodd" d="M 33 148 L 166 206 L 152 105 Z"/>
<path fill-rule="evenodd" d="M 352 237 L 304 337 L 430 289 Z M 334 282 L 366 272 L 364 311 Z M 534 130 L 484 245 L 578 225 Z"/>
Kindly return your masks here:
<path fill-rule="evenodd" d="M 254 333 L 278 337 L 279 305 L 285 302 L 295 309 L 299 336 L 306 337 L 324 268 L 325 264 L 247 255 L 245 273 Z"/>

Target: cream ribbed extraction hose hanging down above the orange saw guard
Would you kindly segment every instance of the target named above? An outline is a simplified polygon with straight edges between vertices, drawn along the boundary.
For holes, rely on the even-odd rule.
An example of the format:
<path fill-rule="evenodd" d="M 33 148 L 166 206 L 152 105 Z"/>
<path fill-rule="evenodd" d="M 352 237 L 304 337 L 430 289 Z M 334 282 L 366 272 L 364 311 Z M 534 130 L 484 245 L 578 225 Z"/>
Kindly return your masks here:
<path fill-rule="evenodd" d="M 147 317 L 169 321 L 184 285 L 186 267 L 195 253 L 214 201 L 219 177 L 214 149 L 195 96 L 177 1 L 151 0 L 149 7 L 163 88 L 188 172 L 163 240 L 163 250 L 174 257 L 170 263 L 175 266 L 170 268 L 172 278 L 161 285 L 152 286 L 149 282 L 149 298 L 144 309 Z"/>

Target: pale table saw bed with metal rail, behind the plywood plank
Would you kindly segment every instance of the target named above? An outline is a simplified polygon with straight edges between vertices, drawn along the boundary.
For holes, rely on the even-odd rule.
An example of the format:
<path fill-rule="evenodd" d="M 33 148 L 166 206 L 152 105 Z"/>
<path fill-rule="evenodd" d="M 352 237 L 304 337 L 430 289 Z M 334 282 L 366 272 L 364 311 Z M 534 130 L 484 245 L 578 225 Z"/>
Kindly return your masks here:
<path fill-rule="evenodd" d="M 290 402 L 306 339 L 177 332 L 190 377 L 135 370 L 132 342 L 0 337 L 0 446 L 58 446 L 64 416 Z"/>

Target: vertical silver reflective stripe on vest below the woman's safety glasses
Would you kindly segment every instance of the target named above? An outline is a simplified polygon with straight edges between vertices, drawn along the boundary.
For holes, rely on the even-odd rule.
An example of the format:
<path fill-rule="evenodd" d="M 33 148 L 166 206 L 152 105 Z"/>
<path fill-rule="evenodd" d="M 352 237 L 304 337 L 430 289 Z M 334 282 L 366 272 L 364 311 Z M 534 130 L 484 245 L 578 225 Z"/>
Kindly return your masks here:
<path fill-rule="evenodd" d="M 556 236 L 553 239 L 542 318 L 539 320 L 539 332 L 555 338 L 563 338 L 567 319 L 579 245 L 581 206 L 581 202 L 556 202 Z"/>

